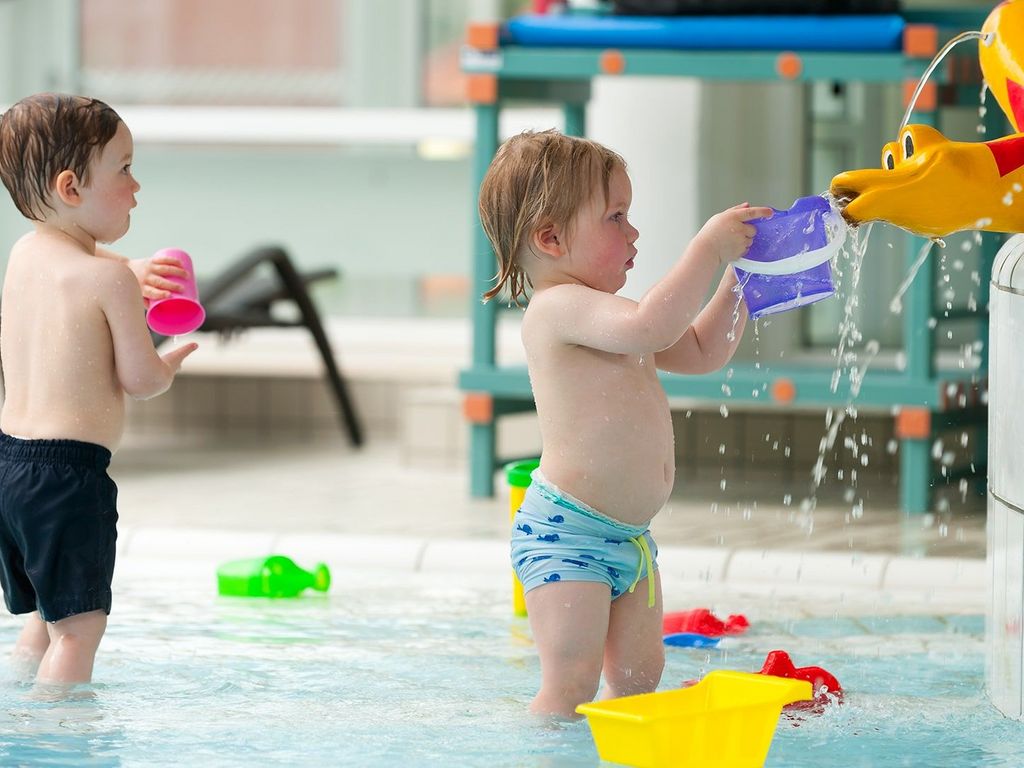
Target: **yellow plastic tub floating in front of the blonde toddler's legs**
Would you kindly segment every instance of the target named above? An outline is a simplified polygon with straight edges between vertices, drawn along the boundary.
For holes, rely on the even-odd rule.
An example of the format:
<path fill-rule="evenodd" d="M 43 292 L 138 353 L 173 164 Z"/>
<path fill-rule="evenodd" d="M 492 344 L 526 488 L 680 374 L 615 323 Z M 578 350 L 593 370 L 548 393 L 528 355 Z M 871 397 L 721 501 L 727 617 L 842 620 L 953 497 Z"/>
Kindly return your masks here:
<path fill-rule="evenodd" d="M 782 707 L 811 684 L 719 670 L 689 688 L 580 705 L 601 760 L 635 768 L 760 768 Z"/>

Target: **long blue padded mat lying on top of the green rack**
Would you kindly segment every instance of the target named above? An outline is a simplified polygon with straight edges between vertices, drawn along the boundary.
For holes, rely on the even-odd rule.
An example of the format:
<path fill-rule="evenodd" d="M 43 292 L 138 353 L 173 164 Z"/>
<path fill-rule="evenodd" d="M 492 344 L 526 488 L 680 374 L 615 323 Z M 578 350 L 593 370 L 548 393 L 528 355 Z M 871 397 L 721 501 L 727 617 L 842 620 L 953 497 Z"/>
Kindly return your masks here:
<path fill-rule="evenodd" d="M 892 51 L 902 16 L 573 16 L 526 14 L 505 24 L 506 45 L 682 50 Z"/>

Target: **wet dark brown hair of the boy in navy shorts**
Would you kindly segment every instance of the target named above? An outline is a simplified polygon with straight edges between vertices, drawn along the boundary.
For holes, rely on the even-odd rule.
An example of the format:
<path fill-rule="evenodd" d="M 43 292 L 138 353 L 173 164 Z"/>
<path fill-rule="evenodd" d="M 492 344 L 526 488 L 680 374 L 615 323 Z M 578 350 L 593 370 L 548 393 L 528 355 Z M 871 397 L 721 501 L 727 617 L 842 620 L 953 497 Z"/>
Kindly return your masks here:
<path fill-rule="evenodd" d="M 62 93 L 37 93 L 7 110 L 0 116 L 0 179 L 17 210 L 41 221 L 62 171 L 87 185 L 89 163 L 120 123 L 102 101 Z"/>

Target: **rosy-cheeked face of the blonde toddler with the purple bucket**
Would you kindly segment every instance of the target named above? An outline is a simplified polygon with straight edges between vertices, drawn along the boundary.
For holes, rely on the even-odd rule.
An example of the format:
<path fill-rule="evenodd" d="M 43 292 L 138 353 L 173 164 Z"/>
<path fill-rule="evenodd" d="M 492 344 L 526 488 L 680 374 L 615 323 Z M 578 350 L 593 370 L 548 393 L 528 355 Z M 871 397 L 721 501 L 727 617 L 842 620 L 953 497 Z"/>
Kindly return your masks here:
<path fill-rule="evenodd" d="M 608 199 L 599 188 L 577 214 L 569 243 L 572 269 L 593 289 L 616 293 L 626 285 L 626 272 L 637 255 L 633 244 L 640 237 L 628 219 L 632 202 L 630 178 L 623 168 L 615 168 L 608 180 Z"/>

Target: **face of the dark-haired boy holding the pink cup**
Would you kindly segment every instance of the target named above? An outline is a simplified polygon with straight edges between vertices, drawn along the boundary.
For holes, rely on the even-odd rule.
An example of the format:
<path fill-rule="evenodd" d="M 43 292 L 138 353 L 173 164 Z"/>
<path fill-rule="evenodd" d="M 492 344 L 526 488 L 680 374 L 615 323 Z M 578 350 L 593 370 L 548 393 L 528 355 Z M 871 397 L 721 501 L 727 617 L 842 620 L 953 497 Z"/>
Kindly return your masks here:
<path fill-rule="evenodd" d="M 131 132 L 121 123 L 89 166 L 89 183 L 82 188 L 77 217 L 99 243 L 113 243 L 128 231 L 140 188 L 131 175 L 133 152 Z"/>

